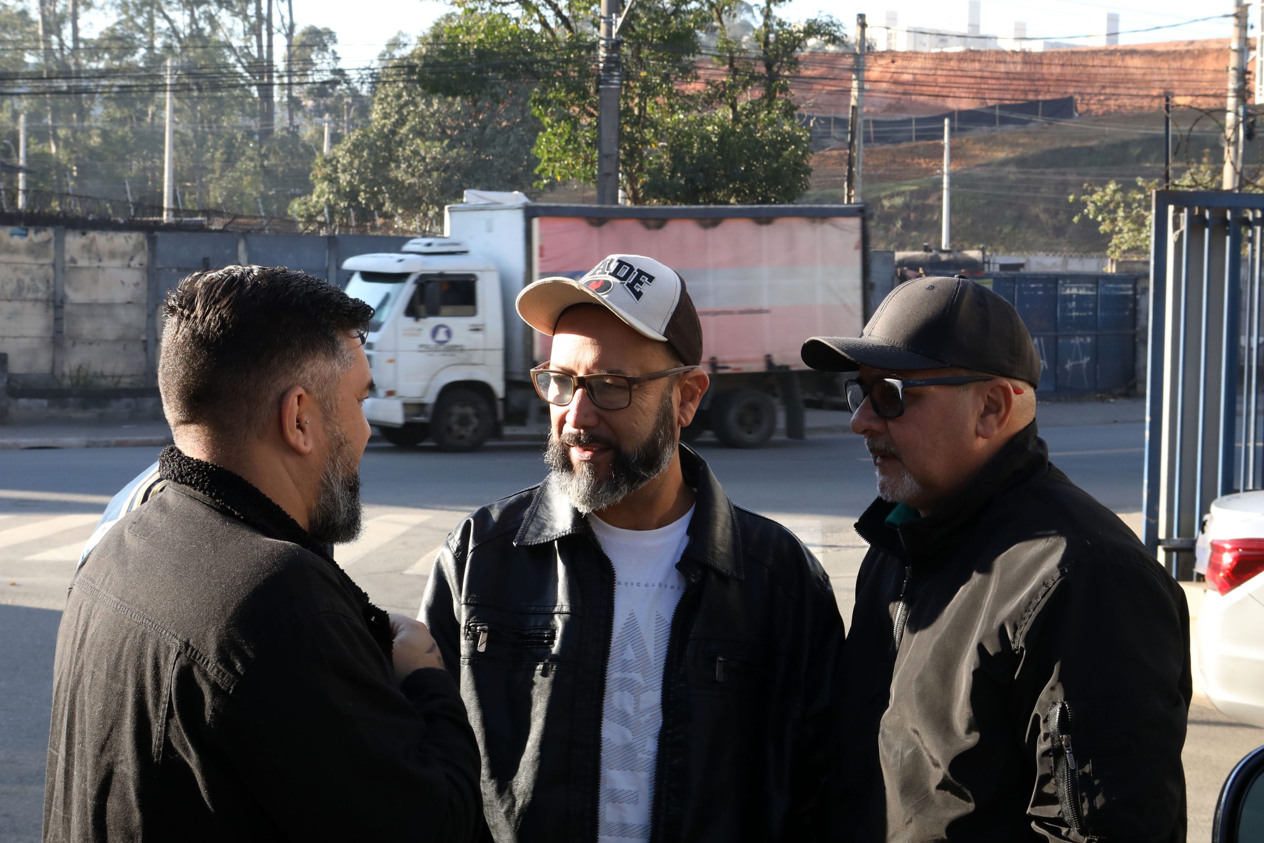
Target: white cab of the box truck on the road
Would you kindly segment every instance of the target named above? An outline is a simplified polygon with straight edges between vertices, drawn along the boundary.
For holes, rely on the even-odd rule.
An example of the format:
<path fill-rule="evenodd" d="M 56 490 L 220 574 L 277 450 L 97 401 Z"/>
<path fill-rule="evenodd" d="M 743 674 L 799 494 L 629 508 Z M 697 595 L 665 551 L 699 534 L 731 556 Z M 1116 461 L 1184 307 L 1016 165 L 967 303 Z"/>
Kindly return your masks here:
<path fill-rule="evenodd" d="M 365 350 L 375 389 L 372 425 L 397 444 L 434 436 L 468 450 L 490 436 L 504 399 L 501 276 L 447 238 L 417 238 L 402 254 L 364 254 L 346 293 L 374 307 Z M 436 421 L 439 425 L 436 426 Z"/>

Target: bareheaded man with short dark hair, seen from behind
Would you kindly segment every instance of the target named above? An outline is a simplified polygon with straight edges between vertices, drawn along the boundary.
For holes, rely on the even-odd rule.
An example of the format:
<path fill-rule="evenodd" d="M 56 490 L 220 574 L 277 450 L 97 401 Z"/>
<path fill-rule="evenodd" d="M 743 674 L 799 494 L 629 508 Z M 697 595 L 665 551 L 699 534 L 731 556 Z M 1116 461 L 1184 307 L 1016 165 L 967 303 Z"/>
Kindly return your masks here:
<path fill-rule="evenodd" d="M 325 552 L 360 532 L 373 308 L 228 267 L 163 312 L 176 444 L 71 584 L 44 839 L 475 839 L 478 743 L 434 640 Z"/>

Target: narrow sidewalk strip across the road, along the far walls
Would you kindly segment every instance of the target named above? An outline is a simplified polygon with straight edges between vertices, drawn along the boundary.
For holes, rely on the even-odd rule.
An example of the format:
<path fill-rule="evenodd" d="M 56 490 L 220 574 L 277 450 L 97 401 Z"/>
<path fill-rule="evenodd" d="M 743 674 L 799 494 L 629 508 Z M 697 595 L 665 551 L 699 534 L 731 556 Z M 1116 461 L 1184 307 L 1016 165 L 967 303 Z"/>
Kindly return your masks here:
<path fill-rule="evenodd" d="M 809 409 L 808 435 L 846 434 L 851 418 L 841 409 Z M 1043 401 L 1036 409 L 1042 427 L 1141 423 L 1145 398 Z M 537 441 L 544 427 L 507 427 L 507 441 Z M 785 435 L 781 421 L 777 436 Z M 377 437 L 374 437 L 377 441 Z M 0 450 L 34 447 L 162 447 L 171 444 L 171 428 L 161 420 L 39 422 L 0 425 Z"/>

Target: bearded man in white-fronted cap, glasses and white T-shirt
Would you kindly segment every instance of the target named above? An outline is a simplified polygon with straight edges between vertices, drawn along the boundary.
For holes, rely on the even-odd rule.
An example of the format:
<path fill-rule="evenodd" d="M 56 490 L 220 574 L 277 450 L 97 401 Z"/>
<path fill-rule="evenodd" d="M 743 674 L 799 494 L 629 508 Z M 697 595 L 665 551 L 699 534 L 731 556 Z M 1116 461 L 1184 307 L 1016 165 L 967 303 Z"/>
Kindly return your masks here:
<path fill-rule="evenodd" d="M 552 337 L 550 473 L 458 525 L 421 608 L 488 837 L 838 839 L 843 623 L 803 543 L 679 442 L 709 383 L 684 282 L 611 255 L 517 307 Z"/>

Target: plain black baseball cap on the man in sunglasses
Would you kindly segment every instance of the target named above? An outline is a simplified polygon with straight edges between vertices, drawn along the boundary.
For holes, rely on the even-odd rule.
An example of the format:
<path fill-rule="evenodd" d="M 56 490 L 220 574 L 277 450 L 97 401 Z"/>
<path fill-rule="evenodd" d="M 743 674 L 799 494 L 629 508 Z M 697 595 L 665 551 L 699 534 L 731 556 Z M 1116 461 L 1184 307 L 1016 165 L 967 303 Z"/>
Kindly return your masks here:
<path fill-rule="evenodd" d="M 1040 355 L 1007 301 L 964 278 L 914 278 L 882 300 L 860 336 L 813 336 L 803 361 L 823 372 L 957 367 L 1035 387 Z"/>

